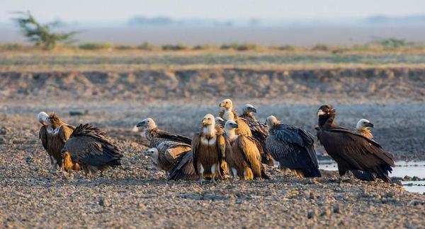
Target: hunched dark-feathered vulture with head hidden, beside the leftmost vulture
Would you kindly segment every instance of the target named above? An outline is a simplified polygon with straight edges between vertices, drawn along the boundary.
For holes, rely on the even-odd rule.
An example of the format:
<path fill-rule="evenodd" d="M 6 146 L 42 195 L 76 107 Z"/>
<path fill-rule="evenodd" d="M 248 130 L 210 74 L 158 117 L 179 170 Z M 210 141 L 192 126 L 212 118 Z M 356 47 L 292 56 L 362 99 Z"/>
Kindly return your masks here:
<path fill-rule="evenodd" d="M 121 165 L 120 150 L 105 139 L 106 133 L 90 124 L 80 124 L 64 146 L 77 163 L 92 166 Z"/>

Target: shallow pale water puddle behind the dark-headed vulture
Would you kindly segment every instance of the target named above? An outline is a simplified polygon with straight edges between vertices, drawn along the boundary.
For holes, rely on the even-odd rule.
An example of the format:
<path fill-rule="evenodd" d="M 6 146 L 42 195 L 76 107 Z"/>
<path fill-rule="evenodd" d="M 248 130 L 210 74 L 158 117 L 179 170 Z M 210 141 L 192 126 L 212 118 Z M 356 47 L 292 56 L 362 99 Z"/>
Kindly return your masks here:
<path fill-rule="evenodd" d="M 391 177 L 419 177 L 420 179 L 425 178 L 425 161 L 419 162 L 406 162 L 397 161 L 393 168 Z M 336 171 L 338 167 L 333 160 L 321 160 L 319 161 L 319 169 Z M 402 181 L 404 189 L 408 192 L 425 193 L 425 180 L 421 181 Z"/>

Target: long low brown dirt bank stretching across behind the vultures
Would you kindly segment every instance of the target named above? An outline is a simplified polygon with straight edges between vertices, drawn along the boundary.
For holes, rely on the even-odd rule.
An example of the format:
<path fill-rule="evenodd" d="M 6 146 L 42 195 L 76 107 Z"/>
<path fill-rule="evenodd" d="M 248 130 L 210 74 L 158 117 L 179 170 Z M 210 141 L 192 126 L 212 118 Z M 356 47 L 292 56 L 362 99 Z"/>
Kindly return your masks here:
<path fill-rule="evenodd" d="M 425 69 L 1 72 L 3 99 L 425 98 Z M 1 100 L 0 98 L 0 100 Z"/>

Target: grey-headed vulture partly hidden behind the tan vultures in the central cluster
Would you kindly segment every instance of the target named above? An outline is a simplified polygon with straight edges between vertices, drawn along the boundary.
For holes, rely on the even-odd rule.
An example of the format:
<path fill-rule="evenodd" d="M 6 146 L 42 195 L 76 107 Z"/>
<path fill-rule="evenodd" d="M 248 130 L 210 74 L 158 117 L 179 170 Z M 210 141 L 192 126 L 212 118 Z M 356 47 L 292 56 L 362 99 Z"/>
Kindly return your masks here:
<path fill-rule="evenodd" d="M 254 136 L 257 145 L 259 145 L 261 163 L 273 166 L 273 158 L 266 147 L 266 139 L 268 136 L 267 126 L 259 122 L 254 113 L 256 113 L 256 107 L 251 104 L 245 104 L 242 108 L 242 114 L 239 117 L 246 119 L 249 129 L 251 129 L 252 136 Z"/>

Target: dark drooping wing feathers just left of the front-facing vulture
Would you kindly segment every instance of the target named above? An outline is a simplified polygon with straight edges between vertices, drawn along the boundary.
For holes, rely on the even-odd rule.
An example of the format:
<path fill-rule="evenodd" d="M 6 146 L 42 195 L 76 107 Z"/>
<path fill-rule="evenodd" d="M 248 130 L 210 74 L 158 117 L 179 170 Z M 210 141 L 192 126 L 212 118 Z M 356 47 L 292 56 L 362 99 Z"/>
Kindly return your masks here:
<path fill-rule="evenodd" d="M 174 168 L 169 171 L 168 180 L 199 180 L 193 167 L 193 152 L 181 153 Z"/>

